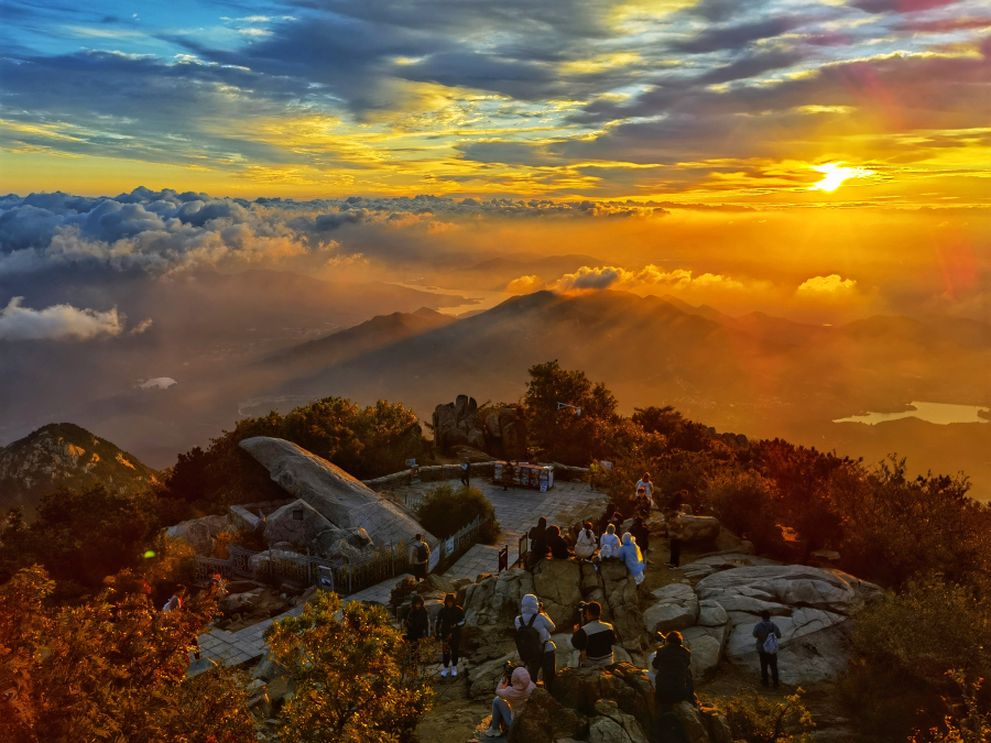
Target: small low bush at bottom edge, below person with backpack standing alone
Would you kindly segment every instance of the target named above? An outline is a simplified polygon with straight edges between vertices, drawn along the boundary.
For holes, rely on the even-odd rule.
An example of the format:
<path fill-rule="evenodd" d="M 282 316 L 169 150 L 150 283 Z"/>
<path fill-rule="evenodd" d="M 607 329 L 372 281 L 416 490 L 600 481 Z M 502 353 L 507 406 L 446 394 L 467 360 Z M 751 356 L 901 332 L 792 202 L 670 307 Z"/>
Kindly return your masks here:
<path fill-rule="evenodd" d="M 752 689 L 740 689 L 736 697 L 720 700 L 734 741 L 747 743 L 810 743 L 815 725 L 812 713 L 802 703 L 802 689 L 784 702 L 767 699 Z"/>

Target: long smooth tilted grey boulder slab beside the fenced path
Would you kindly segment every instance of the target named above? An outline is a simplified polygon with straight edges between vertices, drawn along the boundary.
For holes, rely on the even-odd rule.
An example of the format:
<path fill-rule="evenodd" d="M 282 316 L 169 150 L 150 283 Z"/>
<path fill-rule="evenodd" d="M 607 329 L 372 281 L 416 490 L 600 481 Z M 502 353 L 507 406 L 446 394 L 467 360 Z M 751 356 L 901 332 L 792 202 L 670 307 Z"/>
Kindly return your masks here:
<path fill-rule="evenodd" d="M 423 534 L 431 548 L 438 545 L 404 506 L 291 441 L 255 436 L 241 441 L 240 447 L 285 491 L 306 501 L 338 528 L 363 528 L 375 544 L 409 544 L 414 535 Z"/>

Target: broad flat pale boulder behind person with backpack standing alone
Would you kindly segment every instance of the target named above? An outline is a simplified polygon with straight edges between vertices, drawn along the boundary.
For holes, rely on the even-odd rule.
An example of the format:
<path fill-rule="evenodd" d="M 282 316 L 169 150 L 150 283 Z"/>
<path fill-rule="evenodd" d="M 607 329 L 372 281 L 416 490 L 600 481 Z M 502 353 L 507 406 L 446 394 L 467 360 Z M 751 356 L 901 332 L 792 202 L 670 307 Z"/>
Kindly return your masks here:
<path fill-rule="evenodd" d="M 760 671 L 753 627 L 769 611 L 782 632 L 778 670 L 786 684 L 818 684 L 839 676 L 850 657 L 852 616 L 881 589 L 838 570 L 806 566 L 740 567 L 716 572 L 695 587 L 703 602 L 727 613 L 725 655 Z"/>

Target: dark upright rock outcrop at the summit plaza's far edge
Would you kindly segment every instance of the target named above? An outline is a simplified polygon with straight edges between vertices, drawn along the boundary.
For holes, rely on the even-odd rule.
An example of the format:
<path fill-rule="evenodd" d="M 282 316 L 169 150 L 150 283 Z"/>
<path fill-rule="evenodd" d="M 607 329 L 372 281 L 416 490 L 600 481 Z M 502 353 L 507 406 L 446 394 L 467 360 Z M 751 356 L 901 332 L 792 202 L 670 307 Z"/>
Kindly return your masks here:
<path fill-rule="evenodd" d="M 507 459 L 526 457 L 526 423 L 514 407 L 479 409 L 475 397 L 458 395 L 434 408 L 433 424 L 434 448 L 445 454 L 471 447 Z"/>

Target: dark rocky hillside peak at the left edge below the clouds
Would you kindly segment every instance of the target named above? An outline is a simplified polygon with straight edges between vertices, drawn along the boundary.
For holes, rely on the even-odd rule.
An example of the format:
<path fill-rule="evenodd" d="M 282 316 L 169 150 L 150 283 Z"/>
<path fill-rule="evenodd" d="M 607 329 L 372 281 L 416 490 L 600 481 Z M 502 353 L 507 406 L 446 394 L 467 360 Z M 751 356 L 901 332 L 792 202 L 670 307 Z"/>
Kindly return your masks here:
<path fill-rule="evenodd" d="M 23 509 L 29 518 L 47 493 L 63 485 L 104 484 L 138 492 L 157 472 L 110 441 L 72 423 L 53 423 L 0 448 L 0 510 Z"/>

